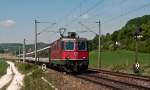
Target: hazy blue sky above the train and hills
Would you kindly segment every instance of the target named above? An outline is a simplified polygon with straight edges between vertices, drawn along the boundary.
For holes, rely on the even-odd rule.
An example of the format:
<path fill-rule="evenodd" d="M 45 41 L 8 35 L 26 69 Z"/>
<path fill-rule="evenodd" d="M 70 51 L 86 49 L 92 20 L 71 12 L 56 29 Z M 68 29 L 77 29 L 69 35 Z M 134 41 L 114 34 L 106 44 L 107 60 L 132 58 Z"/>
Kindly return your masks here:
<path fill-rule="evenodd" d="M 60 37 L 59 28 L 92 39 L 112 33 L 135 17 L 150 15 L 150 0 L 0 0 L 0 43 L 34 43 L 34 20 L 38 20 L 38 42 Z"/>

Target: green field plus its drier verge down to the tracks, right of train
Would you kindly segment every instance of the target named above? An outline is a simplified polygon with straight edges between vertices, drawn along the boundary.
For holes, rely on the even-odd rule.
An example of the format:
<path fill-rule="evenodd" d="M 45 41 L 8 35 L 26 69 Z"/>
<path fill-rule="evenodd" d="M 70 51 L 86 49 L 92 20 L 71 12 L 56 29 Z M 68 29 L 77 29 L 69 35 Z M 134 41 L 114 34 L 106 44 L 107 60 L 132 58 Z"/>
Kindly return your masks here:
<path fill-rule="evenodd" d="M 90 52 L 89 67 L 97 67 L 97 55 L 96 51 Z M 150 54 L 138 53 L 138 62 L 141 72 L 150 74 Z M 127 50 L 101 52 L 101 63 L 103 69 L 132 72 L 132 65 L 135 63 L 135 53 Z"/>

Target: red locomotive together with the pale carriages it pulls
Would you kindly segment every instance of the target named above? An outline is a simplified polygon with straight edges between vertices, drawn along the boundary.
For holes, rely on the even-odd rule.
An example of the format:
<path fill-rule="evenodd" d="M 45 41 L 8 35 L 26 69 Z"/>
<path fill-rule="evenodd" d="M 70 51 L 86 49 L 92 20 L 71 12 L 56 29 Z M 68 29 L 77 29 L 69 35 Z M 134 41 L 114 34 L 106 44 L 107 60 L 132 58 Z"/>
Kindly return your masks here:
<path fill-rule="evenodd" d="M 34 53 L 26 53 L 26 61 L 35 62 Z M 67 72 L 84 72 L 89 65 L 88 40 L 68 32 L 67 36 L 37 50 L 37 62 Z"/>

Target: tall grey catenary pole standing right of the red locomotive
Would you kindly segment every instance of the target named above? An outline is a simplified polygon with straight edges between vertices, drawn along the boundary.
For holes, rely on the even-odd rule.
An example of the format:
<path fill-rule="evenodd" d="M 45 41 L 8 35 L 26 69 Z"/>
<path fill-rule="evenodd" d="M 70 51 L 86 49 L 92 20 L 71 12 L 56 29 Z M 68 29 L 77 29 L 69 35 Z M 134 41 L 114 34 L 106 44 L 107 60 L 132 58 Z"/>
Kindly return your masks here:
<path fill-rule="evenodd" d="M 98 22 L 98 26 L 99 26 L 99 42 L 98 42 L 98 69 L 101 69 L 101 22 L 100 20 Z"/>

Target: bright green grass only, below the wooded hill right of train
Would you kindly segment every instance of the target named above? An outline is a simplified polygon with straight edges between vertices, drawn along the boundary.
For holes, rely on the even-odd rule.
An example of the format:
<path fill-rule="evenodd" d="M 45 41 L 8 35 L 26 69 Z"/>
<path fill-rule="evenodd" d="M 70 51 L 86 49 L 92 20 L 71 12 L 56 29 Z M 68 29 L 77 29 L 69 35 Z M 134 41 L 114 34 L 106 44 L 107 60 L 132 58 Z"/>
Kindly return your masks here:
<path fill-rule="evenodd" d="M 97 65 L 97 52 L 90 52 L 90 65 Z M 102 65 L 112 64 L 133 64 L 135 62 L 135 54 L 132 51 L 118 50 L 118 51 L 105 51 L 101 52 L 101 63 Z M 150 54 L 138 53 L 138 62 L 140 64 L 150 63 Z"/>

